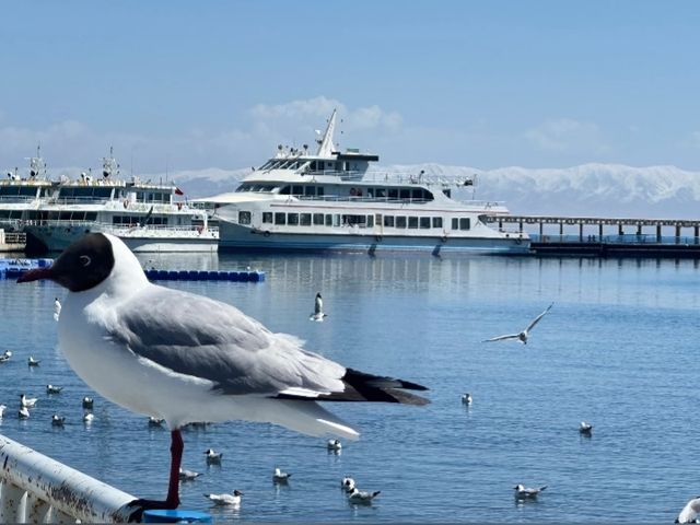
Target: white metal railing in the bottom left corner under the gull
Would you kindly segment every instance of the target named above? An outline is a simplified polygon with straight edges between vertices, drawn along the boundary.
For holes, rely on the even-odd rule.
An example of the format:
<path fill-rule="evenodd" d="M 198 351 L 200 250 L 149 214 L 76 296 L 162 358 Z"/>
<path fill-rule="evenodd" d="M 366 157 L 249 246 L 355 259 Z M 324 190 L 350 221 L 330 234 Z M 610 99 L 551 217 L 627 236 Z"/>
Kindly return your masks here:
<path fill-rule="evenodd" d="M 136 498 L 0 435 L 0 523 L 125 523 Z"/>

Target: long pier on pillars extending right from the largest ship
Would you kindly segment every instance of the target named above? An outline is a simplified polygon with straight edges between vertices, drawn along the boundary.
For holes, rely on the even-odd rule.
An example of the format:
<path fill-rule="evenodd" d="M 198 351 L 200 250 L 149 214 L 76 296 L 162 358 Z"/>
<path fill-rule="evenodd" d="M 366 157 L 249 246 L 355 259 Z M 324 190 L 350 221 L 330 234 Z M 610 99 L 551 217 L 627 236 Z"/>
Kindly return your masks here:
<path fill-rule="evenodd" d="M 700 220 L 487 215 L 500 230 L 526 232 L 533 255 L 700 258 Z M 510 228 L 509 228 L 510 226 Z"/>

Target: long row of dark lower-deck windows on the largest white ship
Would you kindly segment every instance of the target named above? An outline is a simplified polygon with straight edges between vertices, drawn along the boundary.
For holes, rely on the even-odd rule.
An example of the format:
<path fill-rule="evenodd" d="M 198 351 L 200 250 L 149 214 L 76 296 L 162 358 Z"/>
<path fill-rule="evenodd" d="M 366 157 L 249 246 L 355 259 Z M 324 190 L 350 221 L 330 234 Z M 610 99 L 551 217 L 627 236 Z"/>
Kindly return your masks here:
<path fill-rule="evenodd" d="M 252 215 L 249 211 L 238 212 L 240 224 L 250 224 Z M 442 217 L 412 217 L 412 215 L 358 215 L 349 213 L 285 213 L 265 211 L 262 212 L 264 224 L 292 225 L 292 226 L 353 226 L 373 228 L 374 224 L 383 224 L 385 228 L 398 229 L 442 229 Z M 471 220 L 468 217 L 453 217 L 451 221 L 452 230 L 469 230 Z"/>

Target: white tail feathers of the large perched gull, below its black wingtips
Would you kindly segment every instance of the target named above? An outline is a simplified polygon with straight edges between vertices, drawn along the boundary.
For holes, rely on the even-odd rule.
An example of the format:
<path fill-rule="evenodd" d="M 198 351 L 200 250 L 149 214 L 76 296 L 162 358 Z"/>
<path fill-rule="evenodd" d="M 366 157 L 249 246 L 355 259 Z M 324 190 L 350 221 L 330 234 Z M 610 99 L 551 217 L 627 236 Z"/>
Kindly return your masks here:
<path fill-rule="evenodd" d="M 290 430 L 315 436 L 332 434 L 352 441 L 360 438 L 347 422 L 314 401 L 276 399 L 275 402 L 282 405 L 276 411 L 273 422 Z"/>

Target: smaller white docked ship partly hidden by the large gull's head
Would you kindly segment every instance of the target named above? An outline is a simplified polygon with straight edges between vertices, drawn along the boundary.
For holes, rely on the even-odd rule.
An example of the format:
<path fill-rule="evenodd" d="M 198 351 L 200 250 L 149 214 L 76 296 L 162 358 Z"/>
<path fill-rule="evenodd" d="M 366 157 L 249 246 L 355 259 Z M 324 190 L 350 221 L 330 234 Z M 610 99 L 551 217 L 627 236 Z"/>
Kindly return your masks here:
<path fill-rule="evenodd" d="M 110 150 L 102 178 L 83 172 L 80 179 L 55 185 L 24 222 L 27 249 L 62 250 L 85 233 L 103 232 L 117 235 L 133 252 L 217 252 L 219 230 L 210 226 L 203 210 L 176 200 L 182 195 L 176 186 L 138 177 L 127 182 L 118 175 Z"/>

